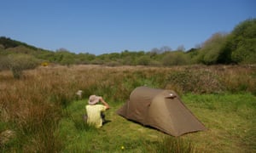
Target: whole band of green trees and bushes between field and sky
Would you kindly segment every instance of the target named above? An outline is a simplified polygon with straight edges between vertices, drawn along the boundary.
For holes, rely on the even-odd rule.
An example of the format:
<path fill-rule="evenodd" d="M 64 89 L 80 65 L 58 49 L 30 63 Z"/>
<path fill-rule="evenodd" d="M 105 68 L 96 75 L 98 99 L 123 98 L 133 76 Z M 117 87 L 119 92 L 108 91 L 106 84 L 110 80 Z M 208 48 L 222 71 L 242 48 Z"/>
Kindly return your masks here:
<path fill-rule="evenodd" d="M 256 63 L 256 19 L 244 20 L 230 33 L 215 33 L 197 48 L 154 48 L 151 51 L 129 51 L 111 54 L 74 54 L 65 48 L 49 51 L 0 37 L 1 57 L 29 54 L 38 62 L 61 65 L 218 65 Z M 12 56 L 13 57 L 13 56 Z M 0 66 L 1 67 L 1 66 Z"/>

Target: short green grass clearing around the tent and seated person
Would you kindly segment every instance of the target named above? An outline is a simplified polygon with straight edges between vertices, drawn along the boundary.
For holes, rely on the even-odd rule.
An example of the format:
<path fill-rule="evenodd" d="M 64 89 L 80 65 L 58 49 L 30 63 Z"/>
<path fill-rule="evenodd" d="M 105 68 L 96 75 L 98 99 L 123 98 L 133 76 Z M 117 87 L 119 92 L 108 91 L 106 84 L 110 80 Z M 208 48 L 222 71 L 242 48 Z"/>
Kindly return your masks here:
<path fill-rule="evenodd" d="M 170 152 L 173 145 L 187 146 L 188 152 L 253 152 L 255 150 L 255 101 L 252 94 L 185 94 L 183 100 L 208 128 L 173 139 L 150 127 L 125 120 L 114 104 L 106 112 L 110 120 L 100 129 L 83 122 L 87 99 L 74 101 L 61 119 L 58 133 L 66 139 L 63 152 Z M 77 125 L 79 124 L 79 126 Z M 191 146 L 190 146 L 191 145 Z M 177 152 L 177 151 L 175 151 Z M 183 152 L 183 151 L 182 151 Z"/>

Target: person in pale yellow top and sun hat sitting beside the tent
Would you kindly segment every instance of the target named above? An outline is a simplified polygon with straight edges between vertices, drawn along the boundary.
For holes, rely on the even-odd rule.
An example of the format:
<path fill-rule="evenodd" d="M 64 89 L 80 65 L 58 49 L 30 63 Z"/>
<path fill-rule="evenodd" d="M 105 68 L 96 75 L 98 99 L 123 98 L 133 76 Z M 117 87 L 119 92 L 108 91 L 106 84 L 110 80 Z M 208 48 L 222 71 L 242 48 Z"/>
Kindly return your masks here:
<path fill-rule="evenodd" d="M 97 104 L 100 101 L 102 105 Z M 88 105 L 85 106 L 85 109 L 87 112 L 86 122 L 96 128 L 102 127 L 102 123 L 105 122 L 103 111 L 109 109 L 108 103 L 100 96 L 90 95 Z"/>

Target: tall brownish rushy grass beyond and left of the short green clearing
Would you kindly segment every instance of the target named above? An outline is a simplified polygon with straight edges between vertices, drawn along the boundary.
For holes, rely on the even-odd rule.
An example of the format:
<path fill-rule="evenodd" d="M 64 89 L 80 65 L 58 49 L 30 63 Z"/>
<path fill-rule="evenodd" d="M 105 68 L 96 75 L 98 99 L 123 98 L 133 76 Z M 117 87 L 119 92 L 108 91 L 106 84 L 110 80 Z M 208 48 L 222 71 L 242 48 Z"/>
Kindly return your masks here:
<path fill-rule="evenodd" d="M 187 77 L 187 72 L 191 76 Z M 182 84 L 179 82 L 179 77 L 188 83 Z M 199 78 L 195 79 L 195 77 Z M 75 128 L 80 131 L 84 129 L 93 131 L 81 123 L 82 118 L 79 118 L 83 115 L 81 112 L 71 114 L 67 109 L 73 105 L 75 99 L 78 99 L 75 93 L 79 89 L 84 91 L 82 99 L 87 99 L 90 94 L 98 94 L 107 99 L 111 105 L 121 105 L 129 98 L 134 88 L 143 85 L 153 88 L 172 88 L 178 90 L 180 94 L 191 92 L 256 94 L 255 82 L 254 65 L 194 65 L 169 68 L 49 66 L 23 71 L 20 80 L 14 79 L 10 71 L 0 71 L 0 133 L 6 130 L 13 133 L 9 141 L 0 144 L 0 149 L 3 152 L 59 152 L 67 142 L 64 141 L 61 132 L 56 131 L 61 125 L 69 124 L 69 120 L 74 122 Z M 189 87 L 184 88 L 185 86 Z M 68 120 L 63 122 L 61 119 L 65 117 Z M 128 141 L 128 138 L 124 139 Z M 84 143 L 85 141 L 83 140 Z M 127 145 L 134 147 L 130 142 Z M 88 146 L 87 149 L 90 147 Z M 108 145 L 108 147 L 112 146 Z"/>

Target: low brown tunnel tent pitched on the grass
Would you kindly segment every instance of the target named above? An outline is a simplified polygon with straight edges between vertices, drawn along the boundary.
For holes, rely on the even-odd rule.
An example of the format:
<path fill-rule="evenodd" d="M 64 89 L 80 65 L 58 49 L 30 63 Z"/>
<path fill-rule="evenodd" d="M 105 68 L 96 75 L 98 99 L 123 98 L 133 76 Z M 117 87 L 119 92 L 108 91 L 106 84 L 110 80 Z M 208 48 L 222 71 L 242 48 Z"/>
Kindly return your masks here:
<path fill-rule="evenodd" d="M 206 129 L 172 90 L 135 88 L 117 113 L 173 136 Z"/>

